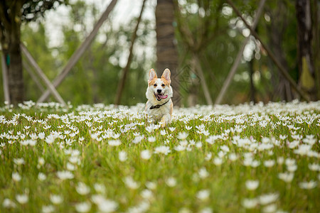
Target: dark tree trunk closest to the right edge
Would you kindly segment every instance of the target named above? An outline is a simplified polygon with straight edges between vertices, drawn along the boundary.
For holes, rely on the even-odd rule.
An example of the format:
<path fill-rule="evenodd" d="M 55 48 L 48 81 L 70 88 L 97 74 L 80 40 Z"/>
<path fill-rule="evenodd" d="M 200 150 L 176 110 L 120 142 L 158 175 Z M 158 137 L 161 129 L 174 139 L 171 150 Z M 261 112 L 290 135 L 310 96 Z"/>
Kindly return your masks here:
<path fill-rule="evenodd" d="M 312 55 L 312 21 L 310 0 L 297 0 L 299 85 L 316 99 L 316 77 Z"/>

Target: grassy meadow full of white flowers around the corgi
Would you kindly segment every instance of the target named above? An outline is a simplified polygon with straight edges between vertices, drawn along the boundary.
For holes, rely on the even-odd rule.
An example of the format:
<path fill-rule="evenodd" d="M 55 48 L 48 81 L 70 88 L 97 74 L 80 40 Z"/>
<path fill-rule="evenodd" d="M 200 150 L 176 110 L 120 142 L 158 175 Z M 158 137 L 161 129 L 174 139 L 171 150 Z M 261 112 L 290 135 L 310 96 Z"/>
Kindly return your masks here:
<path fill-rule="evenodd" d="M 1 107 L 0 212 L 319 212 L 320 102 Z"/>

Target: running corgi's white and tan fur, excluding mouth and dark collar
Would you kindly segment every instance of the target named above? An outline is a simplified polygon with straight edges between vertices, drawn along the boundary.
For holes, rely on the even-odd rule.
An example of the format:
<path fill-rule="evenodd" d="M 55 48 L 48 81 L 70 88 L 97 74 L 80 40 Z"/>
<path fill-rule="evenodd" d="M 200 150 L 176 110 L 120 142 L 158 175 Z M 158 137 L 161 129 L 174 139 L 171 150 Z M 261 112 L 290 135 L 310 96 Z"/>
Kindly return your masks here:
<path fill-rule="evenodd" d="M 155 73 L 156 72 L 154 72 L 154 70 L 150 70 L 148 82 L 154 80 L 154 77 L 156 77 Z M 162 77 L 170 82 L 170 70 L 166 69 Z M 155 83 L 157 85 L 156 87 L 154 87 L 154 84 L 151 84 L 150 86 L 148 84 L 148 88 L 146 89 L 146 98 L 148 99 L 148 102 L 146 102 L 146 116 L 148 116 L 152 121 L 161 121 L 161 126 L 164 127 L 166 126 L 166 124 L 169 124 L 171 122 L 170 112 L 172 112 L 171 97 L 173 96 L 173 92 L 170 85 L 166 85 L 166 87 L 164 88 L 161 87 L 161 84 L 164 83 L 161 78 L 157 78 Z M 157 93 L 157 89 L 161 89 L 161 94 L 163 94 L 164 96 L 168 95 L 168 97 L 166 99 L 161 99 L 160 101 L 155 99 L 154 93 Z M 150 109 L 151 106 L 156 106 L 158 104 L 164 105 L 159 107 L 158 109 Z"/>

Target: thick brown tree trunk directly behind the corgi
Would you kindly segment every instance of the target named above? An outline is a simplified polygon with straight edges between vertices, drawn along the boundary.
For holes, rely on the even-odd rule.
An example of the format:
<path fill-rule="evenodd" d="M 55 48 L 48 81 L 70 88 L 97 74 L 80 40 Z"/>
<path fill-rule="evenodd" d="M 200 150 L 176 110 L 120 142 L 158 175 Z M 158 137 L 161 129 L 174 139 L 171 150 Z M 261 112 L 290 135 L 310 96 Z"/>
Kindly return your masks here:
<path fill-rule="evenodd" d="M 174 1 L 158 0 L 156 4 L 156 72 L 158 76 L 169 68 L 171 71 L 172 98 L 175 106 L 180 106 L 178 53 L 174 38 Z"/>

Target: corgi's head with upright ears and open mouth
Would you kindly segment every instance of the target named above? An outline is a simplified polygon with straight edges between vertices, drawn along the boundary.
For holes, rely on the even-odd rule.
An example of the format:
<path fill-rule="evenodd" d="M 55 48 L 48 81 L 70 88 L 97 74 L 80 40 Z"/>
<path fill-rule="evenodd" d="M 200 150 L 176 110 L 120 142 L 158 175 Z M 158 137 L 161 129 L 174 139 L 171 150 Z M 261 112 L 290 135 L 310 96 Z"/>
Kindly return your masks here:
<path fill-rule="evenodd" d="M 148 89 L 146 89 L 146 98 L 151 102 L 166 102 L 172 97 L 172 88 L 170 86 L 171 72 L 164 70 L 161 78 L 156 77 L 154 69 L 149 71 Z"/>

